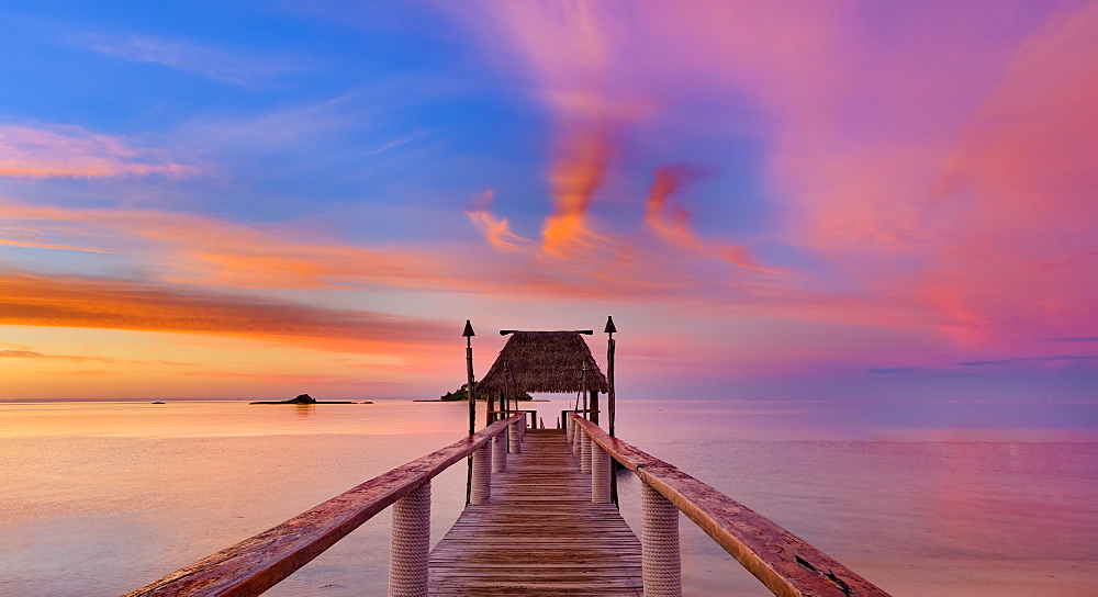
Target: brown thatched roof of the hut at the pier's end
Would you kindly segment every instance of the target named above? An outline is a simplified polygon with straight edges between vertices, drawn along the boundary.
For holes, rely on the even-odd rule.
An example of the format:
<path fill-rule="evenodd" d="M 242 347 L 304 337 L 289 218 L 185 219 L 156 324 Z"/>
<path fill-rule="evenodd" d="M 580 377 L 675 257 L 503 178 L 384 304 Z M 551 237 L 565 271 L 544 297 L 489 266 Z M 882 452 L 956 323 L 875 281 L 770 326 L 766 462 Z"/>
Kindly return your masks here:
<path fill-rule="evenodd" d="M 584 363 L 587 372 L 581 374 Z M 492 369 L 478 382 L 479 397 L 503 392 L 505 367 L 509 370 L 513 392 L 569 394 L 579 392 L 581 383 L 587 390 L 609 390 L 606 376 L 578 331 L 515 331 Z"/>

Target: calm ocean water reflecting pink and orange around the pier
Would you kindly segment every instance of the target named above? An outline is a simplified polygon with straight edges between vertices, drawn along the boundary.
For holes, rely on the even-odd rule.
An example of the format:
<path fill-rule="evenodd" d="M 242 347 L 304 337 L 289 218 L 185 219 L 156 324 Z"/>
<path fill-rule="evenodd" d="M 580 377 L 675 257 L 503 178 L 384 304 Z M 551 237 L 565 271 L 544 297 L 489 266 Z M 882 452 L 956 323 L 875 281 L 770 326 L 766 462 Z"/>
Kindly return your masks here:
<path fill-rule="evenodd" d="M 567 406 L 530 405 L 548 426 Z M 0 403 L 0 595 L 125 593 L 457 440 L 466 407 Z M 971 425 L 1005 408 L 1080 431 Z M 621 401 L 618 435 L 893 595 L 1094 596 L 1098 443 L 1082 439 L 1096 413 Z M 1065 437 L 1076 441 L 1049 441 Z M 461 509 L 463 471 L 433 484 L 434 540 Z M 637 482 L 619 482 L 639 528 Z M 681 528 L 688 595 L 769 595 L 690 521 Z M 383 595 L 388 533 L 386 511 L 268 594 Z"/>

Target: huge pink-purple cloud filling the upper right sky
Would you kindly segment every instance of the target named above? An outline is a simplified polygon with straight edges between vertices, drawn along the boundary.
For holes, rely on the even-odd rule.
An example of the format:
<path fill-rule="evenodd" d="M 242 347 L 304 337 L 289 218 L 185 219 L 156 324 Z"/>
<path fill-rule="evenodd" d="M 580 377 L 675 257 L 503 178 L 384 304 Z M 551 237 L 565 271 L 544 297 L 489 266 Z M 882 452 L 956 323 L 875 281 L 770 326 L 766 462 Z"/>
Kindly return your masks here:
<path fill-rule="evenodd" d="M 887 19 L 853 4 L 637 2 L 628 18 L 618 8 L 485 4 L 495 29 L 484 43 L 520 57 L 561 123 L 556 145 L 578 147 L 554 160 L 553 182 L 562 166 L 584 176 L 554 188 L 547 232 L 594 229 L 591 202 L 618 159 L 569 140 L 575 131 L 598 139 L 606 123 L 642 128 L 680 98 L 735 94 L 766 119 L 764 189 L 782 219 L 765 234 L 831 272 L 736 286 L 740 307 L 856 320 L 871 306 L 866 322 L 922 318 L 963 346 L 1098 322 L 1098 7 L 915 3 Z M 737 126 L 712 123 L 715 134 Z M 677 184 L 658 174 L 647 224 L 671 245 L 750 267 L 744 243 L 688 228 L 671 201 Z M 637 237 L 595 234 L 650 255 Z"/>

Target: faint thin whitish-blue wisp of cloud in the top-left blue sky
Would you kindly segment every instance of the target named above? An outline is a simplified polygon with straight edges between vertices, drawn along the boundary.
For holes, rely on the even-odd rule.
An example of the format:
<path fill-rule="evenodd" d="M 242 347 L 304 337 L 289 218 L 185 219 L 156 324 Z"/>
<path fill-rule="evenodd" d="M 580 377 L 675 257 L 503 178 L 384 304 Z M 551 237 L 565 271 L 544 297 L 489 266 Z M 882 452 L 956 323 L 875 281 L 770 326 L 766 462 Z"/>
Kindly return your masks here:
<path fill-rule="evenodd" d="M 89 35 L 81 46 L 123 60 L 160 65 L 240 87 L 262 87 L 283 72 L 302 69 L 299 58 L 148 36 Z"/>

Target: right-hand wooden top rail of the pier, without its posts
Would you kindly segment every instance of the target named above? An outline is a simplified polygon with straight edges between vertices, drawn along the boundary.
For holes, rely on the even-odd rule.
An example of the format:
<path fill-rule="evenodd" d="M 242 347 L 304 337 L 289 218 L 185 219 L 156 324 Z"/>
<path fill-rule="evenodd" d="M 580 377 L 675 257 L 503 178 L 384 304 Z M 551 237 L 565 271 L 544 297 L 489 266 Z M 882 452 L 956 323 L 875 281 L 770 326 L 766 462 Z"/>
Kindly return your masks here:
<path fill-rule="evenodd" d="M 865 578 L 675 466 L 569 415 L 610 457 L 659 492 L 780 597 L 888 597 Z"/>

